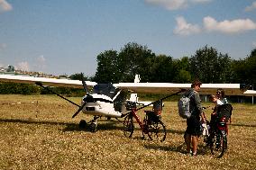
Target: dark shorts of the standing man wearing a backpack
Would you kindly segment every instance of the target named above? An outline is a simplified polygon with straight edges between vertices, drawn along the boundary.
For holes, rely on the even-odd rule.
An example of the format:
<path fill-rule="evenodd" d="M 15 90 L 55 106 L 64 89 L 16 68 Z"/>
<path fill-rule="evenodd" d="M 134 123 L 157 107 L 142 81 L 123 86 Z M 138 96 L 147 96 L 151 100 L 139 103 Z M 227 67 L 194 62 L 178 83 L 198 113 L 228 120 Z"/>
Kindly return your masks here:
<path fill-rule="evenodd" d="M 202 124 L 200 122 L 200 118 L 194 115 L 191 115 L 189 119 L 187 119 L 187 130 L 186 133 L 192 136 L 200 137 L 202 135 Z"/>

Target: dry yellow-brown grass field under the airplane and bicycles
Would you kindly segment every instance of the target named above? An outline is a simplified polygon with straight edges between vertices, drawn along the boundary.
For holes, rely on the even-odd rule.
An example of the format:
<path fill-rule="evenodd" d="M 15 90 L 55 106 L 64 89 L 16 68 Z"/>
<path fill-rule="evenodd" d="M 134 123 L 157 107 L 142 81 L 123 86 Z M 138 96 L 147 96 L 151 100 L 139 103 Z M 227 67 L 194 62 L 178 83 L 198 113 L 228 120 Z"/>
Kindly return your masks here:
<path fill-rule="evenodd" d="M 79 130 L 78 122 L 91 117 L 71 119 L 78 108 L 55 95 L 0 95 L 0 107 L 0 169 L 256 169 L 256 104 L 233 104 L 228 150 L 219 159 L 202 139 L 197 157 L 185 154 L 186 121 L 178 117 L 177 103 L 165 102 L 168 134 L 162 143 L 142 139 L 138 124 L 125 138 L 114 119 L 100 119 L 96 133 Z"/>

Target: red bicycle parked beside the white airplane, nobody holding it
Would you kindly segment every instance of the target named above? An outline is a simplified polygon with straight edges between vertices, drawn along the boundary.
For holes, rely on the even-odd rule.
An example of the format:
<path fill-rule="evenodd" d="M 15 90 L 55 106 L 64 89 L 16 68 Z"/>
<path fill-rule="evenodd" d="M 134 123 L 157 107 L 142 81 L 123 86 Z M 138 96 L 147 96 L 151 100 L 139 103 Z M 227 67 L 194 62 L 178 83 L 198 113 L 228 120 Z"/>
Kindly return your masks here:
<path fill-rule="evenodd" d="M 175 94 L 179 94 L 184 91 L 185 90 L 182 89 Z M 167 130 L 166 130 L 165 124 L 163 123 L 163 121 L 161 121 L 161 116 L 160 116 L 160 113 L 162 111 L 162 101 L 175 94 L 170 94 L 164 98 L 161 98 L 158 101 L 155 101 L 148 105 L 144 105 L 139 109 L 136 108 L 136 103 L 134 102 L 126 103 L 125 105 L 126 110 L 131 112 L 123 114 L 123 117 L 125 116 L 123 121 L 124 136 L 128 138 L 131 138 L 133 136 L 133 131 L 134 131 L 133 117 L 134 117 L 142 130 L 143 138 L 145 138 L 145 134 L 147 134 L 149 136 L 149 139 L 151 140 L 158 140 L 160 142 L 164 141 L 166 139 Z M 141 119 L 139 118 L 136 112 L 151 104 L 153 104 L 152 111 L 144 111 L 145 117 L 143 121 L 141 121 Z"/>

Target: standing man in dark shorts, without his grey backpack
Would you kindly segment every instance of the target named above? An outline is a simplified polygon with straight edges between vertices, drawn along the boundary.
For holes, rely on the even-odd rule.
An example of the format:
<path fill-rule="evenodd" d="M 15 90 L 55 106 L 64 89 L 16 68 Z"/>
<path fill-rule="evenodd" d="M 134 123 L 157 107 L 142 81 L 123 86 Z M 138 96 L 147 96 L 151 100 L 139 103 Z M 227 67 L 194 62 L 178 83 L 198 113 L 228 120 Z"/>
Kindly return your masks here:
<path fill-rule="evenodd" d="M 191 96 L 189 102 L 189 111 L 191 117 L 187 119 L 187 130 L 185 131 L 185 142 L 187 145 L 187 153 L 192 156 L 197 156 L 197 141 L 202 134 L 201 121 L 206 122 L 204 113 L 202 112 L 201 100 L 198 94 L 202 83 L 199 80 L 195 80 L 191 88 L 187 90 L 185 95 Z M 192 144 L 192 150 L 190 145 Z"/>

